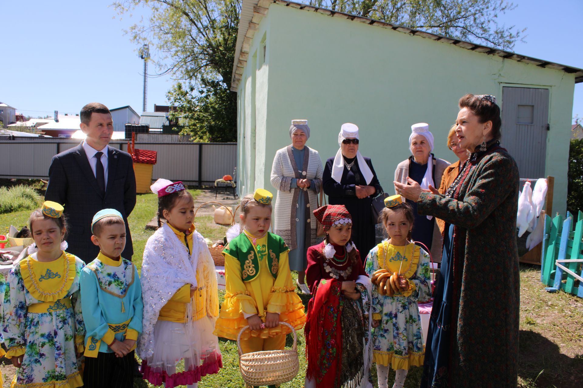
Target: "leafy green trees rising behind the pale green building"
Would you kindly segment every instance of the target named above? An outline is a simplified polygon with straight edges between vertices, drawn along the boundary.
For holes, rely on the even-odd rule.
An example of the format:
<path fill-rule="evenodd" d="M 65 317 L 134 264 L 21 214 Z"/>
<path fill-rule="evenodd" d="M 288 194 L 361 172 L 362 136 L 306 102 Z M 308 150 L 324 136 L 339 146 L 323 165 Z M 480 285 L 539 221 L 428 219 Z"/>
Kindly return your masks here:
<path fill-rule="evenodd" d="M 512 49 L 525 30 L 500 26 L 507 0 L 304 0 L 313 6 L 401 24 L 460 40 Z M 195 140 L 236 141 L 237 97 L 230 91 L 241 0 L 119 0 L 120 15 L 143 7 L 149 17 L 127 31 L 176 80 L 168 99 L 182 133 Z M 166 66 L 166 67 L 165 67 Z"/>

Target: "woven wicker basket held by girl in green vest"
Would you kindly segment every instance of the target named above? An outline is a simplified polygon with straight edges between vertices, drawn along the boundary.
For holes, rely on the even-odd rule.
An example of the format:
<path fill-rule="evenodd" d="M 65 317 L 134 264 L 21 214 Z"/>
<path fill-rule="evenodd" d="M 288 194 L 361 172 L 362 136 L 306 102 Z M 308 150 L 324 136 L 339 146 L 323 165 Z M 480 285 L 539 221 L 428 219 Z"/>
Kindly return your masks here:
<path fill-rule="evenodd" d="M 293 380 L 300 370 L 300 360 L 297 355 L 296 330 L 286 322 L 293 333 L 293 346 L 290 350 L 264 350 L 243 354 L 241 350 L 241 334 L 249 328 L 245 326 L 237 336 L 239 350 L 239 370 L 245 384 L 251 386 L 266 386 L 285 383 Z"/>

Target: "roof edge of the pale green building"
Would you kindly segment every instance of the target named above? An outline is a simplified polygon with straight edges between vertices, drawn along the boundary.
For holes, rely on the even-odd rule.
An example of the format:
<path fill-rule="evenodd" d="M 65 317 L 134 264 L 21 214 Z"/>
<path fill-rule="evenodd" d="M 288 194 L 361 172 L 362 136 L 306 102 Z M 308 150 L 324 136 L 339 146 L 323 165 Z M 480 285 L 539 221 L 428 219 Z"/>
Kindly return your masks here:
<path fill-rule="evenodd" d="M 398 24 L 385 23 L 380 20 L 369 19 L 368 17 L 350 15 L 350 13 L 333 11 L 325 8 L 318 8 L 311 5 L 306 5 L 298 2 L 286 0 L 243 0 L 241 5 L 241 14 L 239 19 L 239 27 L 237 32 L 237 45 L 235 47 L 235 60 L 233 63 L 233 73 L 231 75 L 231 90 L 237 91 L 241 77 L 243 76 L 243 69 L 247 63 L 251 40 L 258 30 L 259 22 L 265 15 L 269 6 L 272 3 L 278 3 L 291 8 L 303 9 L 312 12 L 318 12 L 326 16 L 336 16 L 342 19 L 353 20 L 372 26 L 383 27 L 399 31 L 405 34 L 417 35 L 423 38 L 428 38 L 436 42 L 444 42 L 462 47 L 471 51 L 483 52 L 484 54 L 498 55 L 502 58 L 517 60 L 518 62 L 531 63 L 532 65 L 547 67 L 549 69 L 563 70 L 566 73 L 575 73 L 575 83 L 583 82 L 583 69 L 560 65 L 559 63 L 549 62 L 547 60 L 532 58 L 526 55 L 515 54 L 511 51 L 504 51 L 497 48 L 491 48 L 472 42 L 466 42 L 453 38 L 444 37 L 442 35 L 431 34 L 421 30 L 410 29 L 409 27 L 399 26 Z"/>

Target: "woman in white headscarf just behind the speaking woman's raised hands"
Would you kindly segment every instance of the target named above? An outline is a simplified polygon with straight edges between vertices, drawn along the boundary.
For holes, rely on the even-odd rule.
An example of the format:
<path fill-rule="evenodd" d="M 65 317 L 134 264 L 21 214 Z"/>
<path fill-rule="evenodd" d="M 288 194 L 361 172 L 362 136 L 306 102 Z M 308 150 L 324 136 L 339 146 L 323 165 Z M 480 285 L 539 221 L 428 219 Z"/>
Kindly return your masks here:
<path fill-rule="evenodd" d="M 438 188 L 441 177 L 449 162 L 444 159 L 436 159 L 433 151 L 433 134 L 429 131 L 429 124 L 417 123 L 411 126 L 409 136 L 409 150 L 412 156 L 399 163 L 395 170 L 395 180 L 407 183 L 407 178 L 415 180 L 423 188 L 429 186 Z M 395 193 L 399 190 L 395 187 Z M 435 219 L 431 216 L 417 215 L 417 204 L 407 200 L 413 206 L 415 213 L 415 225 L 413 226 L 413 240 L 420 241 L 431 250 L 434 262 L 441 261 L 441 233 L 435 227 Z"/>

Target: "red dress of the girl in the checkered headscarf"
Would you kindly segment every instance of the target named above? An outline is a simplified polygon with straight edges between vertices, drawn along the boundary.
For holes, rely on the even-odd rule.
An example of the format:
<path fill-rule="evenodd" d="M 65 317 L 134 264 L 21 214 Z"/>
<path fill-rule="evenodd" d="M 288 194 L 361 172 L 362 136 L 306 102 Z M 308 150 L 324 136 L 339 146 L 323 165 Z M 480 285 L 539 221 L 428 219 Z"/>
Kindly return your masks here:
<path fill-rule="evenodd" d="M 359 300 L 345 298 L 342 282 L 356 282 L 361 275 L 367 277 L 368 281 L 368 276 L 358 251 L 356 262 L 346 258 L 345 263 L 338 265 L 337 261 L 325 258 L 322 254 L 325 245 L 324 242 L 314 245 L 307 252 L 308 268 L 305 276 L 313 297 L 308 303 L 304 330 L 308 361 L 306 378 L 307 382 L 312 382 L 310 386 L 317 388 L 360 386 L 361 382 L 369 379 L 370 364 L 365 361 L 365 354 L 370 332 L 370 296 L 366 286 L 357 283 L 356 289 L 361 293 Z M 336 250 L 335 258 L 344 261 L 345 247 L 333 247 Z M 354 329 L 345 333 L 343 327 Z"/>

